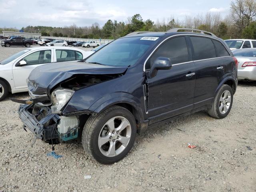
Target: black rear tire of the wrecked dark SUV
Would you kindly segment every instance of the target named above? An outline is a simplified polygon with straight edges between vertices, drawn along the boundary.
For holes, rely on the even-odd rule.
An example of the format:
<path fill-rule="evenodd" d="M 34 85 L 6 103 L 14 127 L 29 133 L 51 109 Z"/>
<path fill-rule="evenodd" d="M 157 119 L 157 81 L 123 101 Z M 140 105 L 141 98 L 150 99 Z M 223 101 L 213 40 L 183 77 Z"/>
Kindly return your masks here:
<path fill-rule="evenodd" d="M 230 98 L 230 102 L 226 102 L 227 100 L 224 100 L 224 102 L 222 102 L 225 92 L 230 93 L 230 96 L 227 97 L 227 100 Z M 226 108 L 228 107 L 228 109 L 225 112 L 221 113 L 220 108 L 222 108 L 223 103 Z M 233 103 L 233 90 L 229 85 L 223 84 L 218 90 L 211 108 L 208 108 L 208 114 L 211 117 L 217 118 L 217 119 L 225 118 L 229 114 L 232 108 L 232 103 Z"/>

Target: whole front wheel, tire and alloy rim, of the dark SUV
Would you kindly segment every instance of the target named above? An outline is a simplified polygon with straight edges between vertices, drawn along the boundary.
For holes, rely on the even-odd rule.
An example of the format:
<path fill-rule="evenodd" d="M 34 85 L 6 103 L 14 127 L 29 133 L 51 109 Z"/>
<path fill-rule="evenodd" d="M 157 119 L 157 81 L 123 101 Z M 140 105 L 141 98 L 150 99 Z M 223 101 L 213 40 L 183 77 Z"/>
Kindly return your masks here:
<path fill-rule="evenodd" d="M 126 108 L 112 106 L 98 116 L 90 116 L 82 132 L 82 145 L 92 159 L 113 164 L 131 150 L 136 137 L 136 122 Z"/>

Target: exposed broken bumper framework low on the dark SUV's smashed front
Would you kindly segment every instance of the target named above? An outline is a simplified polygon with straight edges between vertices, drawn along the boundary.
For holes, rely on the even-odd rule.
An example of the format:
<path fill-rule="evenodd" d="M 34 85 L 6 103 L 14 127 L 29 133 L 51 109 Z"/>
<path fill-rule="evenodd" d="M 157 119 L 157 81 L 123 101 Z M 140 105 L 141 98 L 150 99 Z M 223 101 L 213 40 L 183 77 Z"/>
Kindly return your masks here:
<path fill-rule="evenodd" d="M 36 138 L 46 143 L 59 144 L 78 137 L 79 120 L 76 116 L 62 117 L 52 114 L 48 106 L 35 104 L 20 105 L 18 114 L 24 123 L 24 129 L 30 130 Z M 61 132 L 58 131 L 59 127 L 62 128 Z"/>

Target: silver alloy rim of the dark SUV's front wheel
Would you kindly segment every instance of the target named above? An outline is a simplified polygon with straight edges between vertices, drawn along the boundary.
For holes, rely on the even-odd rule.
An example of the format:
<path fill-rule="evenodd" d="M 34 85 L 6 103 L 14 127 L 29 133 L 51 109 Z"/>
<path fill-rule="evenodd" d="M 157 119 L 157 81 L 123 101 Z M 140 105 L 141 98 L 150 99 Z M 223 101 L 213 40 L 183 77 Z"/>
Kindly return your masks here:
<path fill-rule="evenodd" d="M 130 142 L 132 128 L 130 122 L 116 116 L 104 124 L 98 136 L 100 152 L 107 157 L 114 157 L 122 153 Z"/>

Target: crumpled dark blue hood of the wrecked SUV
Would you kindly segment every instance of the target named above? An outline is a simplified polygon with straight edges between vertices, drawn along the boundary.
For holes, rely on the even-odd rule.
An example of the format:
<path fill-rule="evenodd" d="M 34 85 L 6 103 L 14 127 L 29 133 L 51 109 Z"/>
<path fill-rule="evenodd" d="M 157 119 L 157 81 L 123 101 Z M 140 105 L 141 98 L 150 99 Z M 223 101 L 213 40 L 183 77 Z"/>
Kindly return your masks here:
<path fill-rule="evenodd" d="M 57 62 L 41 65 L 28 77 L 28 89 L 33 93 L 48 93 L 58 83 L 75 74 L 122 74 L 127 67 L 112 67 L 84 62 Z"/>

